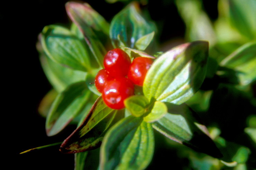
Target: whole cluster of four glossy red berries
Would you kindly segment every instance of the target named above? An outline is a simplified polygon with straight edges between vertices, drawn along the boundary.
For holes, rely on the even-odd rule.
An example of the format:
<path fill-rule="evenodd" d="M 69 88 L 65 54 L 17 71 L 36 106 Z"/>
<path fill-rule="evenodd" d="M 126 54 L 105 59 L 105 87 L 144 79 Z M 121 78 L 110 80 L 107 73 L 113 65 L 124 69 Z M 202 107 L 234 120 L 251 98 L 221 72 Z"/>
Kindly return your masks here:
<path fill-rule="evenodd" d="M 137 57 L 131 63 L 128 54 L 116 48 L 106 54 L 103 62 L 105 69 L 100 70 L 95 77 L 95 86 L 108 107 L 123 109 L 124 100 L 134 95 L 134 84 L 143 86 L 153 60 Z"/>

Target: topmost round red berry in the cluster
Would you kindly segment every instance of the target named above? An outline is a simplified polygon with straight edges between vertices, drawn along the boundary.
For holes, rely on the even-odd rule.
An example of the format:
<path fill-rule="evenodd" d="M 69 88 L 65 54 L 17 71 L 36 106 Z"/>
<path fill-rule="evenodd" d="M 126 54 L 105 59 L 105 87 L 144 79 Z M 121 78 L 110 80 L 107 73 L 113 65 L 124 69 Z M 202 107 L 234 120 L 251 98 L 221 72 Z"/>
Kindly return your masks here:
<path fill-rule="evenodd" d="M 131 60 L 126 52 L 116 48 L 110 50 L 104 57 L 105 69 L 113 77 L 125 77 L 128 73 Z"/>

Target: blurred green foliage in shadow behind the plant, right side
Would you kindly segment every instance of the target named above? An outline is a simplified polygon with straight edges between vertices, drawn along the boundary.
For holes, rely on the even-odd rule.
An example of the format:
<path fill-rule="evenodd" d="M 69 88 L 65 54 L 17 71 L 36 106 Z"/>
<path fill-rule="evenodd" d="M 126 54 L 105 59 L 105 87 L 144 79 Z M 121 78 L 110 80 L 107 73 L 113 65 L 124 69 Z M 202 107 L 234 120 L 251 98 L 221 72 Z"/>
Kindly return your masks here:
<path fill-rule="evenodd" d="M 214 21 L 200 0 L 176 0 L 175 4 L 186 25 L 185 39 L 210 42 L 207 78 L 186 103 L 205 121 L 224 155 L 219 161 L 179 149 L 190 160 L 183 169 L 254 169 L 256 1 L 219 0 Z"/>

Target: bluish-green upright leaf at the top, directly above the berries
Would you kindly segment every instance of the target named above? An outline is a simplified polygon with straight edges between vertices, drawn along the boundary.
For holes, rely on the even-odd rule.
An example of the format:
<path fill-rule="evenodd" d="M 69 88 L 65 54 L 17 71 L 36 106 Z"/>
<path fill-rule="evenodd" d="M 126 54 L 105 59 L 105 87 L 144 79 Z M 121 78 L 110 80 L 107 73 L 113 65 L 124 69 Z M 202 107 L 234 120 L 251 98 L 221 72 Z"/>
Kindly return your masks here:
<path fill-rule="evenodd" d="M 136 2 L 120 11 L 110 23 L 110 38 L 115 48 L 120 47 L 122 43 L 126 47 L 134 48 L 141 37 L 153 31 L 155 31 L 155 25 L 141 16 Z"/>

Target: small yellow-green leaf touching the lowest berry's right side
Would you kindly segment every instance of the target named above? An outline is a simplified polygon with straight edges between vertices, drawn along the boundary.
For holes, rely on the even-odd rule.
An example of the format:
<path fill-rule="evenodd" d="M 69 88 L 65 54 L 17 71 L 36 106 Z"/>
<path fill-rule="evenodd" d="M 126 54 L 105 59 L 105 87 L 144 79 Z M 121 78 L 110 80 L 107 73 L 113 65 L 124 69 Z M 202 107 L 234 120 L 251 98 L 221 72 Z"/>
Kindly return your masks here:
<path fill-rule="evenodd" d="M 140 117 L 147 112 L 148 99 L 142 95 L 134 95 L 125 101 L 126 109 L 135 117 Z"/>

